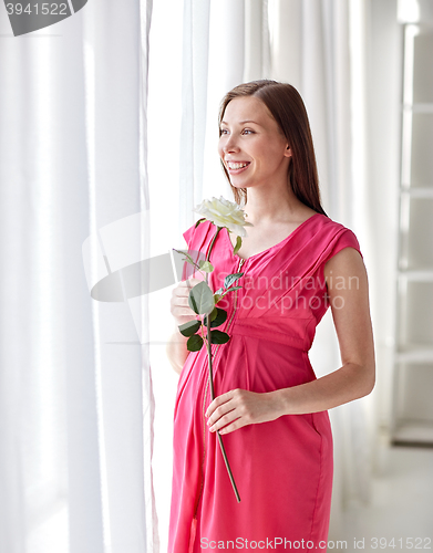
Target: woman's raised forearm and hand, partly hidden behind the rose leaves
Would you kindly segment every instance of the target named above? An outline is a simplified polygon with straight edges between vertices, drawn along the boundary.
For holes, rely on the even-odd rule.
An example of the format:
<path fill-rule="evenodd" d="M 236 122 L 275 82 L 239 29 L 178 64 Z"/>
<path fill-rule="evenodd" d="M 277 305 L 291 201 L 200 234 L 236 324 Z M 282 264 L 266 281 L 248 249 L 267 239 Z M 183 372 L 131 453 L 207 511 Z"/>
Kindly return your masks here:
<path fill-rule="evenodd" d="M 189 355 L 189 352 L 186 348 L 186 342 L 188 338 L 181 334 L 178 326 L 187 323 L 188 321 L 193 321 L 196 317 L 196 314 L 188 305 L 188 295 L 189 290 L 198 282 L 200 282 L 199 279 L 189 279 L 187 281 L 179 282 L 172 292 L 171 312 L 174 319 L 174 326 L 173 333 L 165 347 L 165 353 L 172 367 L 177 374 L 182 373 L 182 368 Z"/>

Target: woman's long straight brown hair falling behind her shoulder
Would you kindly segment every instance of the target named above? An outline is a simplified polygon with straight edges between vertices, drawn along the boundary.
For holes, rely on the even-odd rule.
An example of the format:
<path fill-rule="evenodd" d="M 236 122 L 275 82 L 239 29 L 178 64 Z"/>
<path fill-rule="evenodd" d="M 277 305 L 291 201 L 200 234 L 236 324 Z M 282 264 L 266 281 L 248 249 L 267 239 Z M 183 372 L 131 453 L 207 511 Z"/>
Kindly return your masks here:
<path fill-rule="evenodd" d="M 288 177 L 296 197 L 306 206 L 326 216 L 320 201 L 319 177 L 310 124 L 299 92 L 291 84 L 269 80 L 251 81 L 235 86 L 220 103 L 219 136 L 221 136 L 220 125 L 228 103 L 243 96 L 255 96 L 261 100 L 269 109 L 291 148 Z M 247 189 L 240 188 L 239 190 L 234 187 L 223 160 L 221 166 L 236 204 L 240 205 L 243 199 L 247 199 Z"/>

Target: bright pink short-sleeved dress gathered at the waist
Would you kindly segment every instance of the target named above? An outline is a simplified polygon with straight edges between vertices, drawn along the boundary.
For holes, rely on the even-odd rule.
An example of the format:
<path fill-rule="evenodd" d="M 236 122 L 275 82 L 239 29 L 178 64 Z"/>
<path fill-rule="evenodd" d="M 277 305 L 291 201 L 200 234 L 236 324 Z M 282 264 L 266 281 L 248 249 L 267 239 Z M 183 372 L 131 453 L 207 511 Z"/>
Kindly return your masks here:
<path fill-rule="evenodd" d="M 194 258 L 207 253 L 215 232 L 205 221 L 184 233 Z M 244 275 L 236 282 L 243 288 L 218 304 L 227 311 L 218 330 L 230 340 L 212 345 L 216 396 L 234 388 L 271 392 L 316 378 L 308 351 L 329 307 L 323 267 L 347 247 L 360 252 L 351 230 L 320 213 L 247 260 L 233 253 L 227 230 L 220 230 L 210 253 L 210 288 L 223 286 L 227 274 Z M 190 276 L 189 267 L 185 263 L 183 279 Z M 177 388 L 168 552 L 282 551 L 289 542 L 296 549 L 296 541 L 302 549 L 302 540 L 303 549 L 324 551 L 319 542 L 328 538 L 332 491 L 328 411 L 286 415 L 223 435 L 238 503 L 217 436 L 206 426 L 209 404 L 203 346 L 189 353 Z"/>

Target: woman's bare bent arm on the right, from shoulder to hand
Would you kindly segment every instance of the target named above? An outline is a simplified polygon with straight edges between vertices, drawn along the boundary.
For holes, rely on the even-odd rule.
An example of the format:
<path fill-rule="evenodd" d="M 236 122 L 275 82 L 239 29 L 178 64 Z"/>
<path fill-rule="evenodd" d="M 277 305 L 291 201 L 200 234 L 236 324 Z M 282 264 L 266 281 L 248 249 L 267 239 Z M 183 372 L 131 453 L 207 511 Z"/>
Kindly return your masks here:
<path fill-rule="evenodd" d="M 329 283 L 342 366 L 321 378 L 290 388 L 265 394 L 243 389 L 223 394 L 207 410 L 213 431 L 226 427 L 220 432 L 227 434 L 245 425 L 275 420 L 282 415 L 327 410 L 365 396 L 373 389 L 373 333 L 367 272 L 360 254 L 353 248 L 344 248 L 328 261 L 324 276 Z M 337 282 L 338 288 L 344 282 L 344 288 L 338 290 Z"/>

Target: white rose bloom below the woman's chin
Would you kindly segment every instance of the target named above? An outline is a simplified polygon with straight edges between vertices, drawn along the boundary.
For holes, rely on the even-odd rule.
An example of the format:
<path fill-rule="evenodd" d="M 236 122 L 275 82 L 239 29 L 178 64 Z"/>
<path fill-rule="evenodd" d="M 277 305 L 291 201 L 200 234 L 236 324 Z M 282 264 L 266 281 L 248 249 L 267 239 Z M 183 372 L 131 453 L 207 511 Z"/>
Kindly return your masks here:
<path fill-rule="evenodd" d="M 237 204 L 226 200 L 223 196 L 219 197 L 219 200 L 215 197 L 210 200 L 203 200 L 194 211 L 217 227 L 227 227 L 228 230 L 239 237 L 247 236 L 245 227 L 254 227 L 254 225 L 245 220 L 247 213 Z"/>

